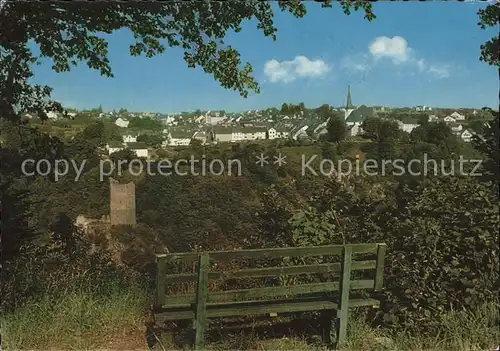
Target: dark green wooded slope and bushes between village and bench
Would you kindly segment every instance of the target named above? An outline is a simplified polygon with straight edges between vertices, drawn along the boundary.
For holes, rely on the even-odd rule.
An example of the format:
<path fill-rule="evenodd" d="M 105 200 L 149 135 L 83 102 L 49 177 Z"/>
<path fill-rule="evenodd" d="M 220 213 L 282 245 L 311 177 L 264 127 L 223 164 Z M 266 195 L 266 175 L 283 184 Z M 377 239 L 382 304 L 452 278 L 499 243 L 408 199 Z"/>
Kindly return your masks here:
<path fill-rule="evenodd" d="M 109 185 L 106 178 L 100 181 L 98 174 L 97 150 L 102 145 L 103 124 L 87 127 L 71 142 L 55 143 L 55 138 L 50 138 L 37 144 L 40 139 L 34 130 L 4 123 L 4 130 L 10 128 L 11 133 L 4 152 L 23 150 L 24 157 L 54 162 L 58 158 L 89 161 L 76 183 L 71 174 L 58 182 L 50 177 L 21 177 L 19 165 L 12 165 L 11 175 L 17 172 L 17 177 L 6 182 L 23 196 L 17 195 L 22 201 L 15 202 L 12 216 L 7 212 L 2 218 L 4 226 L 16 229 L 8 232 L 10 240 L 4 243 L 4 254 L 10 254 L 12 261 L 6 265 L 11 285 L 3 307 L 13 308 L 25 298 L 43 295 L 47 283 L 43 279 L 54 279 L 50 284 L 63 276 L 80 279 L 76 273 L 62 275 L 61 270 L 68 267 L 65 263 L 71 263 L 71 269 L 96 272 L 92 274 L 97 276 L 85 279 L 105 282 L 108 276 L 114 280 L 125 279 L 127 274 L 129 278 L 137 274 L 147 277 L 153 253 L 164 247 L 189 251 L 358 242 L 386 242 L 389 246 L 387 293 L 380 323 L 432 329 L 450 309 L 470 310 L 484 301 L 494 301 L 499 289 L 499 209 L 496 185 L 488 174 L 494 177 L 498 172 L 498 150 L 490 150 L 490 154 L 489 149 L 477 150 L 458 140 L 445 125 L 421 126 L 423 131 L 417 129 L 409 136 L 397 129 L 387 134 L 390 128 L 379 128 L 376 123 L 366 122 L 368 140 L 361 144 L 198 145 L 178 152 L 173 159 L 191 155 L 197 159 L 205 155 L 207 162 L 237 158 L 242 163 L 241 176 L 144 174 L 134 179 L 124 172 L 123 181 L 134 179 L 137 183 L 139 226 L 132 232 L 114 233 L 121 247 L 114 253 L 131 270 L 115 267 L 116 260 L 109 256 L 107 245 L 101 245 L 104 251 L 91 250 L 93 258 L 89 261 L 88 239 L 72 224 L 79 214 L 100 217 L 108 213 Z M 478 145 L 491 142 L 493 139 L 478 141 Z M 288 155 L 286 165 L 255 165 L 256 155 L 278 151 Z M 443 160 L 445 170 L 458 155 L 466 159 L 485 157 L 488 162 L 480 170 L 485 177 L 432 172 L 426 177 L 395 176 L 389 172 L 339 180 L 302 175 L 303 153 L 332 160 L 354 160 L 359 154 L 361 159 L 390 156 L 407 161 L 422 159 L 426 153 L 429 158 Z M 75 198 L 81 201 L 75 202 Z M 36 262 L 47 268 L 37 270 L 34 276 L 31 267 Z M 96 266 L 87 267 L 92 264 Z M 108 271 L 111 267 L 115 268 Z M 79 280 L 68 283 L 65 289 L 80 284 Z M 92 285 L 99 289 L 98 283 Z"/>

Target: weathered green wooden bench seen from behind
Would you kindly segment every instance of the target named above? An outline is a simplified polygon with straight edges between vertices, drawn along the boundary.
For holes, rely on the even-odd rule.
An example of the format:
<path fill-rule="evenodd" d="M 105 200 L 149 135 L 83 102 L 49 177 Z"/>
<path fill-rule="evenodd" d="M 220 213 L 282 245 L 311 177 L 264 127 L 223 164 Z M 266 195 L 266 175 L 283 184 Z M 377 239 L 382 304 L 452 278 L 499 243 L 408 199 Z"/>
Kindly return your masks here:
<path fill-rule="evenodd" d="M 204 347 L 208 318 L 276 316 L 278 313 L 322 311 L 323 341 L 338 345 L 346 339 L 350 307 L 378 307 L 379 301 L 376 299 L 352 299 L 349 293 L 355 290 L 359 292 L 359 290 L 366 289 L 371 291 L 382 289 L 385 252 L 385 244 L 351 244 L 158 254 L 156 255 L 156 300 L 153 308 L 155 323 L 192 319 L 195 329 L 195 349 L 200 350 Z M 365 254 L 364 256 L 371 254 L 371 259 L 355 260 L 356 255 L 359 254 Z M 210 266 L 212 261 L 227 262 L 242 258 L 256 260 L 311 256 L 340 256 L 340 262 L 220 272 L 212 270 Z M 198 262 L 197 273 L 167 274 L 167 265 L 173 262 Z M 368 274 L 371 273 L 372 276 L 370 279 L 352 280 L 353 271 L 371 271 Z M 209 280 L 212 279 L 297 276 L 316 273 L 338 278 L 330 282 L 218 292 L 209 292 L 208 288 Z M 189 281 L 196 282 L 196 294 L 166 295 L 167 283 Z M 334 325 L 335 328 L 333 328 Z"/>

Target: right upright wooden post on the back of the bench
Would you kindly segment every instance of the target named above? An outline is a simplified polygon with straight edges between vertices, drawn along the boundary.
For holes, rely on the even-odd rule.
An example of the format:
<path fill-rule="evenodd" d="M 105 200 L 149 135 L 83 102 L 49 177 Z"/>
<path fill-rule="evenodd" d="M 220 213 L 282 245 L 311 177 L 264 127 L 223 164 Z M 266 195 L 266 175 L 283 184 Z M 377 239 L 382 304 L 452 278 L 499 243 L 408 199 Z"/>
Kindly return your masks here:
<path fill-rule="evenodd" d="M 337 323 L 337 347 L 345 342 L 347 337 L 347 323 L 349 322 L 349 290 L 351 283 L 351 262 L 352 262 L 352 247 L 344 246 L 342 252 L 342 263 L 340 270 L 340 306 Z"/>

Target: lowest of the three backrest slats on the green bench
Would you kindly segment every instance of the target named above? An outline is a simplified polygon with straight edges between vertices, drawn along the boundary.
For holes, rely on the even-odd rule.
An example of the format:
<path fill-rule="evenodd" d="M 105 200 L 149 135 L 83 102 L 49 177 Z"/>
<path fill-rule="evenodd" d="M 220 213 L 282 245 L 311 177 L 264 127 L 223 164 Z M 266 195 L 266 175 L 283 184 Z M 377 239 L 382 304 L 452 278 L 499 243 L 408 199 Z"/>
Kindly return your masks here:
<path fill-rule="evenodd" d="M 302 294 L 324 294 L 327 292 L 339 291 L 339 282 L 326 282 L 314 284 L 301 284 L 291 286 L 277 286 L 266 288 L 252 288 L 241 290 L 228 290 L 208 293 L 208 302 L 236 302 L 245 299 L 266 299 L 285 296 L 296 296 Z M 353 280 L 350 282 L 351 290 L 373 289 L 374 280 Z M 163 307 L 174 307 L 179 305 L 189 305 L 196 303 L 195 295 L 177 295 L 167 297 Z"/>

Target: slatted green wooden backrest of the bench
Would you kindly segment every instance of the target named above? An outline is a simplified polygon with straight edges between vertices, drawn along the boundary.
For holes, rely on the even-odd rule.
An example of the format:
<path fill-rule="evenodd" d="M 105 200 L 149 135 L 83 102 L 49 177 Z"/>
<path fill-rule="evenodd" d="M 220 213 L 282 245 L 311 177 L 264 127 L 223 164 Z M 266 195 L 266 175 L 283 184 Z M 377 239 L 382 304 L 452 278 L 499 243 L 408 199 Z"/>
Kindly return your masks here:
<path fill-rule="evenodd" d="M 298 295 L 324 294 L 330 292 L 373 289 L 379 291 L 383 285 L 383 271 L 386 244 L 325 245 L 290 248 L 252 249 L 238 251 L 187 252 L 156 255 L 156 301 L 155 307 L 191 305 L 203 303 L 237 302 L 248 299 L 275 299 Z M 356 260 L 356 255 L 371 254 L 372 259 Z M 234 259 L 297 258 L 312 256 L 340 256 L 339 263 L 318 263 L 267 268 L 248 268 L 228 271 L 212 271 L 211 261 L 231 261 Z M 366 255 L 364 255 L 366 256 Z M 196 273 L 167 274 L 167 265 L 174 262 L 198 262 Z M 374 272 L 373 278 L 350 280 L 352 271 Z M 339 282 L 323 282 L 292 286 L 250 288 L 231 291 L 209 292 L 211 279 L 278 277 L 323 273 L 339 276 Z M 174 282 L 196 282 L 197 293 L 166 296 L 166 284 Z M 341 294 L 345 295 L 345 294 Z"/>

